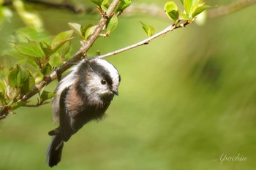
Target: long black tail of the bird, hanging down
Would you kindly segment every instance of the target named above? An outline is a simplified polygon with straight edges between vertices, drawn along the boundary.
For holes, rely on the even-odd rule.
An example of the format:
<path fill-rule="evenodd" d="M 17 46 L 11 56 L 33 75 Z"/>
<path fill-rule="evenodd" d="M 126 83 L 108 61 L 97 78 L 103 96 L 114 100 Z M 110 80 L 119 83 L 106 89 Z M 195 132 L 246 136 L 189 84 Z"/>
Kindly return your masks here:
<path fill-rule="evenodd" d="M 56 166 L 61 161 L 61 152 L 64 146 L 64 142 L 59 135 L 53 135 L 48 150 L 47 163 L 50 167 Z"/>

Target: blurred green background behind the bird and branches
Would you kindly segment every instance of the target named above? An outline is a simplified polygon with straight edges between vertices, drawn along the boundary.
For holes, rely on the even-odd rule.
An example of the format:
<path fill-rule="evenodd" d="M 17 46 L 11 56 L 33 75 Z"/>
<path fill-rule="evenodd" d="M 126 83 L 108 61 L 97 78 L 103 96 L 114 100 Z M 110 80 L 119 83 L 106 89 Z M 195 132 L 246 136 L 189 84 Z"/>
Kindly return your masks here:
<path fill-rule="evenodd" d="M 89 1 L 74 1 L 91 6 Z M 214 0 L 225 5 L 234 1 Z M 157 5 L 165 0 L 134 1 Z M 107 117 L 84 126 L 64 145 L 54 169 L 255 169 L 256 6 L 195 23 L 149 45 L 108 58 L 121 74 L 119 96 Z M 97 15 L 39 9 L 45 29 L 58 34 L 68 22 L 94 23 Z M 140 22 L 161 31 L 168 18 L 121 15 L 118 28 L 91 48 L 108 53 L 146 38 Z M 14 13 L 1 26 L 0 52 L 24 27 Z M 80 47 L 72 40 L 72 53 Z M 48 86 L 52 90 L 56 82 Z M 0 170 L 50 169 L 45 152 L 55 128 L 50 104 L 18 109 L 0 121 Z M 224 161 L 238 154 L 246 161 Z"/>

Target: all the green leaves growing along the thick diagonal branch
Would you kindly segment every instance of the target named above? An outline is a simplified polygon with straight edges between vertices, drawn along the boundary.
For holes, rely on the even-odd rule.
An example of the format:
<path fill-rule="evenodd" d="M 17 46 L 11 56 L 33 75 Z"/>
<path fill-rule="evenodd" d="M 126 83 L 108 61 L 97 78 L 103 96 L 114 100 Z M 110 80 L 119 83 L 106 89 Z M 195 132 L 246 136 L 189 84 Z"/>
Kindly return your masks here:
<path fill-rule="evenodd" d="M 121 0 L 114 12 L 107 17 L 106 12 L 110 7 L 108 0 L 91 0 L 97 5 L 103 18 L 108 18 L 105 27 L 102 30 L 102 36 L 108 36 L 118 26 L 118 15 L 129 7 L 131 0 Z M 54 69 L 63 65 L 67 60 L 70 50 L 70 40 L 75 31 L 83 42 L 89 39 L 97 26 L 89 23 L 87 26 L 81 26 L 78 23 L 69 23 L 72 30 L 64 31 L 53 37 L 50 41 L 34 41 L 26 38 L 26 41 L 15 42 L 14 48 L 18 51 L 20 58 L 13 66 L 0 66 L 0 105 L 8 106 L 12 110 L 27 104 L 23 101 L 23 96 L 31 92 L 38 82 L 53 72 Z M 32 36 L 33 37 L 33 36 Z M 49 98 L 54 96 L 53 93 L 42 90 L 39 92 L 37 104 L 45 104 Z M 18 101 L 18 102 L 17 102 Z M 31 106 L 31 105 L 27 105 Z M 0 108 L 1 109 L 1 108 Z"/>

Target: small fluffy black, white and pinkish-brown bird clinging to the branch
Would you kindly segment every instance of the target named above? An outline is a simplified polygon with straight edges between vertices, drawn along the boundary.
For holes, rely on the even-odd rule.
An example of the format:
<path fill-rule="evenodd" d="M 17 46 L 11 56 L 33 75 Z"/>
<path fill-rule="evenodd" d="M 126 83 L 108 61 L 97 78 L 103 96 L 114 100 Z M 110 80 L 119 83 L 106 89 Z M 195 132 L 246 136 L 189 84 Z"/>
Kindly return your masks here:
<path fill-rule="evenodd" d="M 64 142 L 91 120 L 100 120 L 113 96 L 118 96 L 120 74 L 115 66 L 100 58 L 84 58 L 56 88 L 53 121 L 59 127 L 49 131 L 52 140 L 47 151 L 50 167 L 61 161 Z"/>

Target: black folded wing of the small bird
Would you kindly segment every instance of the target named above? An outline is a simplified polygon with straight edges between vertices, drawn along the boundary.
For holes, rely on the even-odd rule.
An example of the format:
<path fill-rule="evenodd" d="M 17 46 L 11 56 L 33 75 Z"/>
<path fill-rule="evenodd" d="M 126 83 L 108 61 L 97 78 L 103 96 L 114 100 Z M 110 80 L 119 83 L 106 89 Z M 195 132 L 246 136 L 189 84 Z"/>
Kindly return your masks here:
<path fill-rule="evenodd" d="M 69 138 L 72 136 L 72 128 L 70 125 L 71 119 L 65 102 L 68 91 L 69 87 L 65 88 L 62 91 L 61 96 L 59 98 L 59 126 L 60 134 L 64 142 L 67 142 Z"/>

